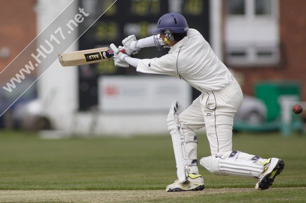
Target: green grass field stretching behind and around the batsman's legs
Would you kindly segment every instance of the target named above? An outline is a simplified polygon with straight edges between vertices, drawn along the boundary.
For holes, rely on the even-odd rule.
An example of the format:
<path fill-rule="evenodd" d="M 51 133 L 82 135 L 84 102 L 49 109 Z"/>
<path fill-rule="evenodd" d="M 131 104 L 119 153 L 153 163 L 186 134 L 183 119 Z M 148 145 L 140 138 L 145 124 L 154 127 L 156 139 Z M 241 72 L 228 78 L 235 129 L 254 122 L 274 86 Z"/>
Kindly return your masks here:
<path fill-rule="evenodd" d="M 198 159 L 209 156 L 205 134 L 199 134 L 198 139 Z M 205 190 L 211 192 L 183 192 L 192 193 L 192 197 L 165 192 L 165 186 L 176 179 L 168 135 L 44 140 L 36 133 L 0 131 L 0 191 L 160 190 L 163 195 L 162 199 L 157 196 L 142 202 L 305 201 L 306 134 L 282 137 L 279 133 L 236 133 L 233 143 L 234 150 L 285 161 L 285 170 L 273 188 L 256 191 L 256 179 L 216 176 L 199 166 Z M 213 192 L 224 191 L 222 188 L 227 190 Z M 239 192 L 239 188 L 247 192 Z"/>

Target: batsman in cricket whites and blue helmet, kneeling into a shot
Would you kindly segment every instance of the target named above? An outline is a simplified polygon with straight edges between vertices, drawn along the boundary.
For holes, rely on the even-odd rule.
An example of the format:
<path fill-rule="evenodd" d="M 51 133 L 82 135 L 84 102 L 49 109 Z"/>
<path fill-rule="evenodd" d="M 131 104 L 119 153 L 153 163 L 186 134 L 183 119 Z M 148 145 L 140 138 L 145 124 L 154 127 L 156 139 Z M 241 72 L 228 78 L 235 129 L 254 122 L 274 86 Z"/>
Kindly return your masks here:
<path fill-rule="evenodd" d="M 197 161 L 196 129 L 206 127 L 211 156 L 203 157 L 200 164 L 216 175 L 237 175 L 257 178 L 255 188 L 271 187 L 285 163 L 278 158 L 261 158 L 232 149 L 234 116 L 243 95 L 241 88 L 226 65 L 218 59 L 208 42 L 179 13 L 160 17 L 154 31 L 156 35 L 137 40 L 130 35 L 122 40 L 123 47 L 111 44 L 114 63 L 118 67 L 136 67 L 138 72 L 162 74 L 185 80 L 199 90 L 201 95 L 184 109 L 172 102 L 167 128 L 171 134 L 178 180 L 166 187 L 166 191 L 204 189 Z M 139 59 L 131 57 L 144 47 L 156 46 L 169 52 L 159 58 Z M 126 53 L 119 50 L 124 48 Z"/>

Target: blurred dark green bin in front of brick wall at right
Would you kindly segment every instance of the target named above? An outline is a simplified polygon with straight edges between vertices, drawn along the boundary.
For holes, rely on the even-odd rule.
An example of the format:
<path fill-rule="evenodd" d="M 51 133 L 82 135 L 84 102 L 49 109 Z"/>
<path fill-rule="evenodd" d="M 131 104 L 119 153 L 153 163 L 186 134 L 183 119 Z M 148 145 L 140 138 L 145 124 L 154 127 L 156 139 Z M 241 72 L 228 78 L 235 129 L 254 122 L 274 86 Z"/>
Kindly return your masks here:
<path fill-rule="evenodd" d="M 279 119 L 281 116 L 281 97 L 295 97 L 300 101 L 300 83 L 297 81 L 267 81 L 255 86 L 255 96 L 267 107 L 267 121 Z"/>

